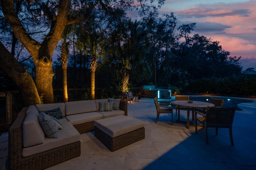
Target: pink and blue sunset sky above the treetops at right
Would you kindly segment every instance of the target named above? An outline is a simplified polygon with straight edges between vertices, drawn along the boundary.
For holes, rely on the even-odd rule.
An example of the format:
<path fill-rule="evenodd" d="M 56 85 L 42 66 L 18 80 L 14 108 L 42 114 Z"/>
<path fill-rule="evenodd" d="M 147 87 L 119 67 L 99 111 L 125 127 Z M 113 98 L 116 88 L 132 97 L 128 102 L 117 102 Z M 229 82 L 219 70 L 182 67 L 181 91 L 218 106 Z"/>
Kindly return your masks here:
<path fill-rule="evenodd" d="M 177 26 L 196 23 L 192 32 L 220 41 L 243 70 L 256 70 L 256 0 L 166 0 L 160 14 L 173 12 Z"/>

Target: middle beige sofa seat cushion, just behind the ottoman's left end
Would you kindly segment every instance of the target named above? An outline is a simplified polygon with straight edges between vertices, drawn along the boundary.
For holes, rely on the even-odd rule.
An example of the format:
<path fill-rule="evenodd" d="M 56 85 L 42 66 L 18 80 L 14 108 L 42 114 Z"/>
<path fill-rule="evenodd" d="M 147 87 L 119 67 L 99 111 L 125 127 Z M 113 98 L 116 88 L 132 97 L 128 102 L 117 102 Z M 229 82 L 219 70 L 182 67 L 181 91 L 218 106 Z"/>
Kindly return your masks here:
<path fill-rule="evenodd" d="M 91 122 L 91 121 L 102 119 L 102 118 L 103 118 L 103 115 L 96 111 L 66 116 L 66 119 L 68 119 L 68 121 L 70 121 L 72 125 L 79 125 L 82 123 L 87 123 L 87 122 Z"/>

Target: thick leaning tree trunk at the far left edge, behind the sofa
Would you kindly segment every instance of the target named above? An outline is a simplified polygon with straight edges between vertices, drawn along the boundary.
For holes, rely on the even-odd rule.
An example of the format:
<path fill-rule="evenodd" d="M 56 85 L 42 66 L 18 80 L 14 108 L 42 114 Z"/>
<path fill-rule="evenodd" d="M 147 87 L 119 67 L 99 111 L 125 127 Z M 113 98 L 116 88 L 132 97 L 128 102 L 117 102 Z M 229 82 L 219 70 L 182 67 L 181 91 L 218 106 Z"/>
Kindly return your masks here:
<path fill-rule="evenodd" d="M 1 42 L 0 51 L 0 68 L 17 85 L 22 105 L 28 107 L 30 105 L 40 104 L 41 100 L 36 85 L 27 70 L 10 54 Z"/>

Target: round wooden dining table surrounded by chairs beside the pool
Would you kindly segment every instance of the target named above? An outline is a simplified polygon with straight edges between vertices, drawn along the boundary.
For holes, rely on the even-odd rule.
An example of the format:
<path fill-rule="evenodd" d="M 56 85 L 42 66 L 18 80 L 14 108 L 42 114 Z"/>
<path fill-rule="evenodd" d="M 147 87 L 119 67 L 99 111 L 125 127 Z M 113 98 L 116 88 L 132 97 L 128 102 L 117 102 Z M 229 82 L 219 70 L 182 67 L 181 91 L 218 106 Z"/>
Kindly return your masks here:
<path fill-rule="evenodd" d="M 187 100 L 174 100 L 170 102 L 173 105 L 176 105 L 176 107 L 187 107 L 187 128 L 189 129 L 189 116 L 190 116 L 190 108 L 192 108 L 192 113 L 194 113 L 196 108 L 207 108 L 207 107 L 214 107 L 214 104 L 208 103 L 208 102 L 199 102 L 199 101 L 193 101 L 193 103 L 189 103 Z M 178 120 L 180 121 L 180 109 L 178 109 Z"/>

